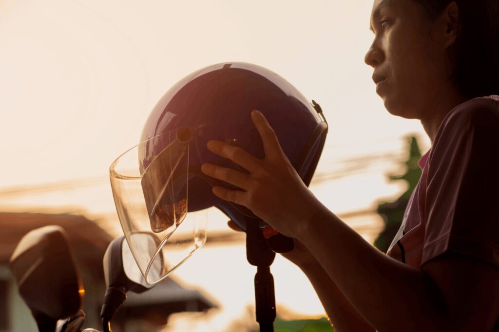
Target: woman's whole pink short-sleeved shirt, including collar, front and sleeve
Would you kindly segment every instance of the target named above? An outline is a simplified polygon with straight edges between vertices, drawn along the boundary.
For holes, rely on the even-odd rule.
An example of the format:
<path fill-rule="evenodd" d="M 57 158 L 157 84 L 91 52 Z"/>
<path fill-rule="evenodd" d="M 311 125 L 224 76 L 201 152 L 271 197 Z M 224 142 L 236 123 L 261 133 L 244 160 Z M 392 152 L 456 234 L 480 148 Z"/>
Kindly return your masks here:
<path fill-rule="evenodd" d="M 469 100 L 440 125 L 387 255 L 420 268 L 444 252 L 499 266 L 499 96 Z"/>

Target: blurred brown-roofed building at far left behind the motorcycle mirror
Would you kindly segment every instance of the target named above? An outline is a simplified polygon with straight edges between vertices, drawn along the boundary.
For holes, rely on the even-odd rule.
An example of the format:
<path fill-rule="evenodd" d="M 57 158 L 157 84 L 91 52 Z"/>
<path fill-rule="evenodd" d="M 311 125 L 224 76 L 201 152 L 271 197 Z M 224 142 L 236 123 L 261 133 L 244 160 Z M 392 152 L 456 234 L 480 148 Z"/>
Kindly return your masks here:
<path fill-rule="evenodd" d="M 19 240 L 30 230 L 59 225 L 66 231 L 69 245 L 75 254 L 78 272 L 85 286 L 84 311 L 87 321 L 99 324 L 97 309 L 105 292 L 102 257 L 111 236 L 97 224 L 81 215 L 47 213 L 0 213 L 0 266 L 5 288 L 1 296 L 5 316 L 0 331 L 36 331 L 31 313 L 17 293 L 15 281 L 10 275 L 8 261 Z M 47 276 L 49 277 L 49 276 Z"/>

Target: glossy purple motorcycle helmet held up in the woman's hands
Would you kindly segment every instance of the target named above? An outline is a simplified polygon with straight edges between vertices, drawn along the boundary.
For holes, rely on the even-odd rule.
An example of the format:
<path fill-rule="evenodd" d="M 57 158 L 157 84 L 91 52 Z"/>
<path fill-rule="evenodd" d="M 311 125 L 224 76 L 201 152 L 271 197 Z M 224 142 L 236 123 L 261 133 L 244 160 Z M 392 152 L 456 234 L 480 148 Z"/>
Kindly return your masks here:
<path fill-rule="evenodd" d="M 149 232 L 166 231 L 168 237 L 188 212 L 212 206 L 246 229 L 255 216 L 244 206 L 215 196 L 214 185 L 231 185 L 206 176 L 201 165 L 211 163 L 245 171 L 210 152 L 206 147 L 210 140 L 225 141 L 257 158 L 264 157 L 261 138 L 250 121 L 253 109 L 265 116 L 283 152 L 308 186 L 328 128 L 320 107 L 315 102 L 310 104 L 290 83 L 263 67 L 243 62 L 208 66 L 167 91 L 144 125 L 142 143 L 133 158 L 138 159 L 134 163 L 139 165 Z M 113 182 L 113 170 L 111 173 Z M 120 215 L 120 208 L 123 210 L 126 204 L 117 201 L 115 191 Z M 124 219 L 130 218 L 129 214 L 121 212 Z M 123 226 L 123 220 L 121 223 Z M 126 225 L 123 230 L 125 236 L 133 232 Z M 162 243 L 158 239 L 158 245 Z M 133 252 L 134 245 L 129 244 Z"/>

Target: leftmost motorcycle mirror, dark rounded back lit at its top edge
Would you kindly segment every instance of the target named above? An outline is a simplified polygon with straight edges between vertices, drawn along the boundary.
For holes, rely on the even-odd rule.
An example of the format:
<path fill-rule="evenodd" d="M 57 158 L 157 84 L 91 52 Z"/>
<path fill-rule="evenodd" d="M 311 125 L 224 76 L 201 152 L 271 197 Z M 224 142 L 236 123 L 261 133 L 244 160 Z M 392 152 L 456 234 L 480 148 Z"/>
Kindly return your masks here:
<path fill-rule="evenodd" d="M 79 312 L 85 291 L 62 227 L 24 235 L 10 257 L 10 270 L 40 332 L 53 332 L 58 320 Z"/>

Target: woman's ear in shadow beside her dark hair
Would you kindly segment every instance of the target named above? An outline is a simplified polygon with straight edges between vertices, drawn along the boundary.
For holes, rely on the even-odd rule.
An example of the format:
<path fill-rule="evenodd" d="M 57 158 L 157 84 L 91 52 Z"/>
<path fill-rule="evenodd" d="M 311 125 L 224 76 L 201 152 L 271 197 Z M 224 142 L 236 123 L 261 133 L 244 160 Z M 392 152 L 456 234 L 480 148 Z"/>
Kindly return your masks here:
<path fill-rule="evenodd" d="M 452 1 L 436 19 L 434 31 L 435 40 L 441 42 L 445 48 L 456 43 L 459 29 L 459 6 Z"/>

